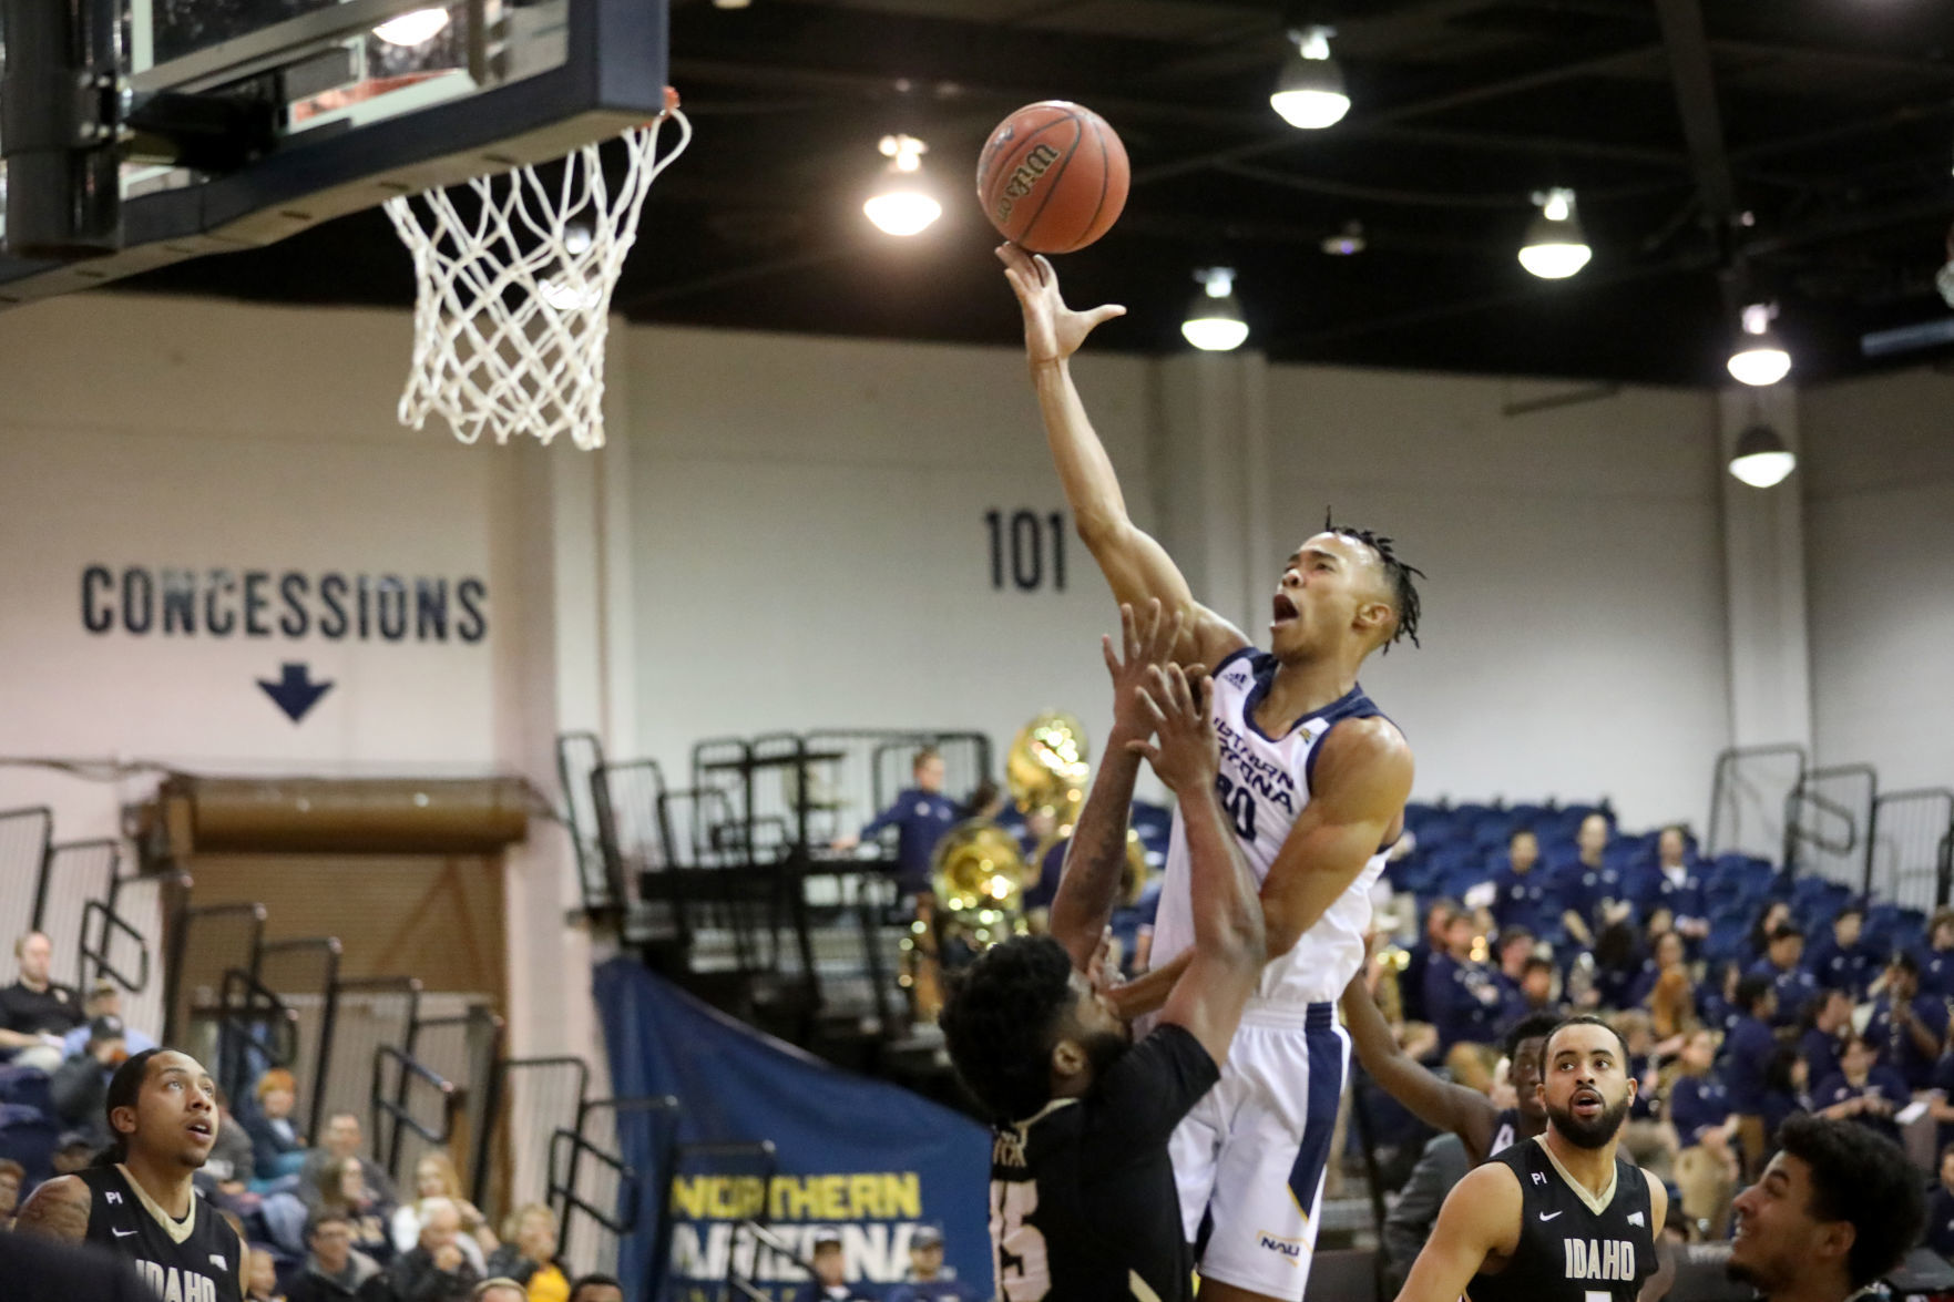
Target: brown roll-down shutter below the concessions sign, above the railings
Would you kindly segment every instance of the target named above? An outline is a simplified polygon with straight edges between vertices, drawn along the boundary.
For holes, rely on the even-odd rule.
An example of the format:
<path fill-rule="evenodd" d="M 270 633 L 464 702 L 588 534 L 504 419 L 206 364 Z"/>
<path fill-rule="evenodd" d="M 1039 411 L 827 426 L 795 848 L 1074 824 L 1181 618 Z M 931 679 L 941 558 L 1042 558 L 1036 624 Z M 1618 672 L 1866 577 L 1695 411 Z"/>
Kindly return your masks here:
<path fill-rule="evenodd" d="M 193 903 L 256 901 L 266 940 L 338 936 L 342 977 L 416 976 L 506 1005 L 500 858 L 207 854 Z"/>

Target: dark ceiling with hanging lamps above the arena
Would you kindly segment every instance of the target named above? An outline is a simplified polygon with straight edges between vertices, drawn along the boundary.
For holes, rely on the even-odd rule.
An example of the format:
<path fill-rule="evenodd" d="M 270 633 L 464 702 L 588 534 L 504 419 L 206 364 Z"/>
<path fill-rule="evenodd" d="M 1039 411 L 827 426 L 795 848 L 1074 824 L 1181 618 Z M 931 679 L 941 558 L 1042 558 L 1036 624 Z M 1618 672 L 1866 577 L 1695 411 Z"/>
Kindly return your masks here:
<path fill-rule="evenodd" d="M 1354 108 L 1329 131 L 1268 108 L 1296 22 L 1337 25 Z M 1217 262 L 1251 344 L 1294 362 L 1718 383 L 1735 305 L 1774 299 L 1809 381 L 1874 366 L 1866 330 L 1948 317 L 1948 0 L 674 0 L 672 82 L 698 139 L 625 266 L 641 323 L 1016 340 L 965 195 L 991 127 L 1043 98 L 1133 160 L 1126 215 L 1059 260 L 1075 303 L 1129 307 L 1100 348 L 1182 350 Z M 860 211 L 889 131 L 952 195 L 913 240 Z M 1546 186 L 1594 246 L 1569 282 L 1514 258 Z M 1350 221 L 1368 248 L 1325 254 Z M 377 213 L 133 283 L 410 297 Z"/>

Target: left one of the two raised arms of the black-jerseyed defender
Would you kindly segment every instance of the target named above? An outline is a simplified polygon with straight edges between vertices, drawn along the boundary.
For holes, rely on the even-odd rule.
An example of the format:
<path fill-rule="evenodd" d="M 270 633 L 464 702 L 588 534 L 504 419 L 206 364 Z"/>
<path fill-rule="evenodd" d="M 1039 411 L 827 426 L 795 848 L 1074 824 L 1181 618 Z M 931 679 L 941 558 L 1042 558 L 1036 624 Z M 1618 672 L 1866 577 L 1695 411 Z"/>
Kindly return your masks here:
<path fill-rule="evenodd" d="M 1147 674 L 1172 661 L 1180 626 L 1180 612 L 1168 616 L 1161 602 L 1147 602 L 1139 616 L 1131 606 L 1120 606 L 1120 655 L 1114 655 L 1112 637 L 1100 639 L 1106 673 L 1112 674 L 1112 733 L 1071 845 L 1065 846 L 1059 893 L 1051 899 L 1051 934 L 1081 972 L 1090 972 L 1126 868 L 1126 827 L 1133 805 L 1133 778 L 1139 776 L 1139 755 L 1127 743 L 1153 735 Z"/>

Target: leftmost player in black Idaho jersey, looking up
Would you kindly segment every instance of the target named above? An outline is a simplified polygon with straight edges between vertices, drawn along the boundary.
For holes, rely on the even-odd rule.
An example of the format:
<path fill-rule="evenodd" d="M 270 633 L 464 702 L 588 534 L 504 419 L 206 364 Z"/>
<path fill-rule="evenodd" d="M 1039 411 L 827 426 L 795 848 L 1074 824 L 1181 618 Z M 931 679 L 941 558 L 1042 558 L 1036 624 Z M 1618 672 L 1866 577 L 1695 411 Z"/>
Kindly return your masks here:
<path fill-rule="evenodd" d="M 16 1228 L 127 1257 L 164 1302 L 242 1302 L 244 1241 L 191 1187 L 217 1142 L 209 1071 L 190 1054 L 145 1050 L 109 1077 L 104 1110 L 115 1142 L 33 1191 Z"/>

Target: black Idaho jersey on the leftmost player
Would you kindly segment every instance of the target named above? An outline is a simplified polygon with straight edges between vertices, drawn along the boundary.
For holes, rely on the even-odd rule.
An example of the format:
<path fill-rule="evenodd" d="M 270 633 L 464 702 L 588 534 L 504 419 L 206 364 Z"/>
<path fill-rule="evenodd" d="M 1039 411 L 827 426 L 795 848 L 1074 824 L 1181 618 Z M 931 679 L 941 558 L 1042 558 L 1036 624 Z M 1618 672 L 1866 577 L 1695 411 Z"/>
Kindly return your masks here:
<path fill-rule="evenodd" d="M 78 1171 L 92 1194 L 88 1241 L 135 1263 L 158 1302 L 242 1302 L 236 1232 L 201 1196 L 174 1220 L 115 1167 Z"/>

